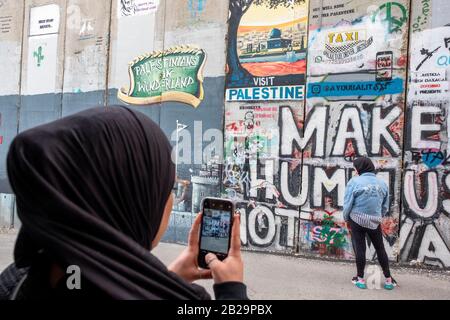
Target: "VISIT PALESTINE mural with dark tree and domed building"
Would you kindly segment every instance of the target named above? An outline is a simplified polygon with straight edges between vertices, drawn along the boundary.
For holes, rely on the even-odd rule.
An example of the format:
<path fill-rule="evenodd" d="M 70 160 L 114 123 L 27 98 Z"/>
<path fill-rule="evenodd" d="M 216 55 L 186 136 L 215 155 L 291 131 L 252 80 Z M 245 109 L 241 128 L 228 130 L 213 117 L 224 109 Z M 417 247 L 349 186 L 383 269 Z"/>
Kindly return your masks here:
<path fill-rule="evenodd" d="M 308 4 L 230 1 L 227 101 L 302 100 Z"/>

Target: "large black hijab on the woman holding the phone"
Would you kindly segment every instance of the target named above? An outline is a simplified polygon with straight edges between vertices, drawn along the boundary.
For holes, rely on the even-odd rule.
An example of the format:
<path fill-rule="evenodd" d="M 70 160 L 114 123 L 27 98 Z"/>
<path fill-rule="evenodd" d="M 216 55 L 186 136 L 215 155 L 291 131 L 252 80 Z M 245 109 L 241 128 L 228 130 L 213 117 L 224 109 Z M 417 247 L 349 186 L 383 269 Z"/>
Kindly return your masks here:
<path fill-rule="evenodd" d="M 25 131 L 7 167 L 18 267 L 45 251 L 111 298 L 209 298 L 150 253 L 175 172 L 169 141 L 142 113 L 94 108 Z"/>

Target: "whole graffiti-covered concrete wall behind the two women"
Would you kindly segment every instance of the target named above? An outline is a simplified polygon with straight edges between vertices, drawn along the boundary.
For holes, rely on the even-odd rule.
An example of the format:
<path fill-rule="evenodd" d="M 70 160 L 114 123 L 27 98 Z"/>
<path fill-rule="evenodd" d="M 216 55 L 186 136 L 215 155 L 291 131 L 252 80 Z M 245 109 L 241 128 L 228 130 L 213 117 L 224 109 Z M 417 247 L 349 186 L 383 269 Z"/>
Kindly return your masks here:
<path fill-rule="evenodd" d="M 5 165 L 18 132 L 127 104 L 174 147 L 165 241 L 185 243 L 201 199 L 223 196 L 237 202 L 247 250 L 353 259 L 343 195 L 351 161 L 365 155 L 390 189 L 390 259 L 448 268 L 449 9 L 445 0 L 0 1 L 0 225 L 19 223 Z"/>

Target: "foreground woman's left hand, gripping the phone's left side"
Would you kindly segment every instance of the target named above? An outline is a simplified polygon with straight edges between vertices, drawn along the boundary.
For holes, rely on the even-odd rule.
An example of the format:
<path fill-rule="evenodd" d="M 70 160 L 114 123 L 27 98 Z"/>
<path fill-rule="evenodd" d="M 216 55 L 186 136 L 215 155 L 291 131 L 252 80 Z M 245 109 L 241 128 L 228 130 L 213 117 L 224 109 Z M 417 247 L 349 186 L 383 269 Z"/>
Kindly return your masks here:
<path fill-rule="evenodd" d="M 198 267 L 199 233 L 202 215 L 197 215 L 191 231 L 189 232 L 188 246 L 180 256 L 172 262 L 168 269 L 179 275 L 187 282 L 200 279 L 211 279 L 211 270 L 202 270 Z"/>

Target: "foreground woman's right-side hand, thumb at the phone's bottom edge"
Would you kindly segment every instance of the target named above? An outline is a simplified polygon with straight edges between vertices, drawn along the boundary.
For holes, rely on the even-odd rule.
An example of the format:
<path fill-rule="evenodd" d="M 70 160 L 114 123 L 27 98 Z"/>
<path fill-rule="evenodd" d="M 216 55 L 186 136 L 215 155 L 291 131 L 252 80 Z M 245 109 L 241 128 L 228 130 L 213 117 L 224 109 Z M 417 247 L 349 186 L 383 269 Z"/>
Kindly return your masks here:
<path fill-rule="evenodd" d="M 206 263 L 212 272 L 214 283 L 243 282 L 244 262 L 241 255 L 240 216 L 234 215 L 233 228 L 231 231 L 231 246 L 228 257 L 220 261 L 213 253 L 205 257 Z"/>

